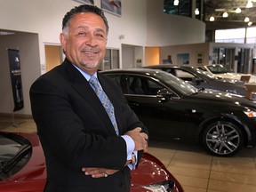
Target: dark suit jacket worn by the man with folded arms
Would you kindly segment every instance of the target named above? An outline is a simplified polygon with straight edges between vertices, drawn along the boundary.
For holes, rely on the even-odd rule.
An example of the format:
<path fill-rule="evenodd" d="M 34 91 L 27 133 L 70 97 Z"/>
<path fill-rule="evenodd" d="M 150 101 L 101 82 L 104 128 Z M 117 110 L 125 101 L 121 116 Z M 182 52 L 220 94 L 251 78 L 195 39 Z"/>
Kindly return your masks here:
<path fill-rule="evenodd" d="M 120 87 L 107 76 L 98 74 L 98 78 L 115 108 L 120 134 L 137 126 L 147 132 L 127 105 Z M 46 192 L 129 191 L 125 141 L 116 136 L 92 87 L 68 60 L 32 84 L 30 100 L 46 159 Z M 82 167 L 120 171 L 92 179 L 84 175 Z"/>

